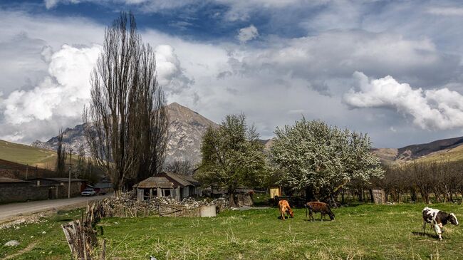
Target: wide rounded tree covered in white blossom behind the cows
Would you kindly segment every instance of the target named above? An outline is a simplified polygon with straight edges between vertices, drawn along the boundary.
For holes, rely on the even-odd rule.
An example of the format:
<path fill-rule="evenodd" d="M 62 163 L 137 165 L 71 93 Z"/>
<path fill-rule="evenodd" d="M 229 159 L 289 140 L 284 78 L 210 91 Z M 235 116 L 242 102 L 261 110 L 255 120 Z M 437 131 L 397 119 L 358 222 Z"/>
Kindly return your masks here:
<path fill-rule="evenodd" d="M 275 134 L 271 161 L 281 170 L 281 184 L 305 189 L 308 197 L 333 198 L 352 180 L 368 182 L 383 175 L 367 135 L 305 118 L 276 128 Z"/>

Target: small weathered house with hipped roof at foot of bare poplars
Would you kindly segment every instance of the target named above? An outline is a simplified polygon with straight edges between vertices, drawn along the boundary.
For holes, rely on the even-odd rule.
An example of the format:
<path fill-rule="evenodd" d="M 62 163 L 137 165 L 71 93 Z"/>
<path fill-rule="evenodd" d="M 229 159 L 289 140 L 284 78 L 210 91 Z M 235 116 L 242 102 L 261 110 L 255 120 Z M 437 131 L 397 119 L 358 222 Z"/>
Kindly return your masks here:
<path fill-rule="evenodd" d="M 178 201 L 192 196 L 200 196 L 199 182 L 187 175 L 172 172 L 161 172 L 155 177 L 142 180 L 134 186 L 137 189 L 137 200 L 153 197 L 172 197 Z"/>

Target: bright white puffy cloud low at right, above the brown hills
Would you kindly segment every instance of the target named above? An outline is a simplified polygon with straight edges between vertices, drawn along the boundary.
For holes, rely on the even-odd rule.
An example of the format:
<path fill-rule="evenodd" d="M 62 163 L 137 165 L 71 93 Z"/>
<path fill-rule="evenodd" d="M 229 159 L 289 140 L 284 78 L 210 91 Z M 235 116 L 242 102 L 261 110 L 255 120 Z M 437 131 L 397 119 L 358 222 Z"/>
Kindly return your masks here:
<path fill-rule="evenodd" d="M 463 126 L 463 95 L 448 88 L 422 90 L 398 83 L 392 76 L 370 80 L 356 71 L 358 91 L 351 89 L 344 101 L 352 108 L 391 108 L 411 116 L 423 129 L 445 130 Z"/>

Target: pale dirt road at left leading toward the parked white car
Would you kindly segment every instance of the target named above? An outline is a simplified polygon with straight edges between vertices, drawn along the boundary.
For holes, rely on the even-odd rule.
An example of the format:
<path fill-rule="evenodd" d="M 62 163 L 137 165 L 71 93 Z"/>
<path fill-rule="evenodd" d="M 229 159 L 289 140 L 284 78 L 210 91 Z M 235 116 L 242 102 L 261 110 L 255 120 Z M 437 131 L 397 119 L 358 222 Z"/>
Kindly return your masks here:
<path fill-rule="evenodd" d="M 33 214 L 37 212 L 46 212 L 51 209 L 62 209 L 79 207 L 80 205 L 85 206 L 85 202 L 94 199 L 103 199 L 109 197 L 111 194 L 94 197 L 75 197 L 71 199 L 50 199 L 41 200 L 36 202 L 21 202 L 0 205 L 0 222 L 4 222 L 7 219 L 14 219 L 17 216 Z"/>

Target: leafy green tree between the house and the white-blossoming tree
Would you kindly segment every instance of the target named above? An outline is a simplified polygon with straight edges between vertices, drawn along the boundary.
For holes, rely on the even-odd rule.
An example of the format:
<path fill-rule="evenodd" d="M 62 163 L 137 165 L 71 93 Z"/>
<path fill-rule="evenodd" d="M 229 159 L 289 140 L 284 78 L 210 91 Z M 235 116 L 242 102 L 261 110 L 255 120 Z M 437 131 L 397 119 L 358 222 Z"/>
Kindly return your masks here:
<path fill-rule="evenodd" d="M 243 114 L 227 115 L 219 128 L 209 127 L 203 136 L 197 178 L 226 189 L 232 207 L 238 187 L 259 185 L 264 179 L 266 156 L 258 137 Z"/>

